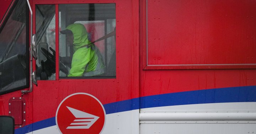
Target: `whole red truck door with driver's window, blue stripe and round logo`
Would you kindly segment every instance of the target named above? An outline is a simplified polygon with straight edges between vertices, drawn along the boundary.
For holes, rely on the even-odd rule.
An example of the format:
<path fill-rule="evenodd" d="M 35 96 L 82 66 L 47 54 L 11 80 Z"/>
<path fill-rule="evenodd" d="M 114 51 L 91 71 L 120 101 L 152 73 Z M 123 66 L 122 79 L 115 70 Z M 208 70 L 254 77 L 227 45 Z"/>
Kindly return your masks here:
<path fill-rule="evenodd" d="M 33 133 L 139 132 L 134 4 L 33 1 Z"/>

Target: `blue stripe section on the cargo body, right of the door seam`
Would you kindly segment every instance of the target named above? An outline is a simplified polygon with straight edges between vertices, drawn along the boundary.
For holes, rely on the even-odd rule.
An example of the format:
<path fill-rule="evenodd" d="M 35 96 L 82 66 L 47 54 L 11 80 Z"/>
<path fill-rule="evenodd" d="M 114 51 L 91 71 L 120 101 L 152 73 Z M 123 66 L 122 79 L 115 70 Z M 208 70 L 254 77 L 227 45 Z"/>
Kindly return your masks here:
<path fill-rule="evenodd" d="M 140 108 L 255 101 L 256 86 L 230 87 L 141 97 Z"/>

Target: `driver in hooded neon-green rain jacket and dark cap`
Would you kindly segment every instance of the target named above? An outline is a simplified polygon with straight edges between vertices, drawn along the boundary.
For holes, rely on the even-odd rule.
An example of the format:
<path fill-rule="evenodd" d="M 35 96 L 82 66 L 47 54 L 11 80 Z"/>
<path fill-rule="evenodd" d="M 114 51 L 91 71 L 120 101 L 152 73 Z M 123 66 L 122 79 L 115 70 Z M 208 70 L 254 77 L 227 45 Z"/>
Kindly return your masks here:
<path fill-rule="evenodd" d="M 96 76 L 105 72 L 105 65 L 98 48 L 88 40 L 88 34 L 84 25 L 70 24 L 60 33 L 66 35 L 66 45 L 73 46 L 70 76 Z M 60 61 L 64 57 L 60 57 Z"/>

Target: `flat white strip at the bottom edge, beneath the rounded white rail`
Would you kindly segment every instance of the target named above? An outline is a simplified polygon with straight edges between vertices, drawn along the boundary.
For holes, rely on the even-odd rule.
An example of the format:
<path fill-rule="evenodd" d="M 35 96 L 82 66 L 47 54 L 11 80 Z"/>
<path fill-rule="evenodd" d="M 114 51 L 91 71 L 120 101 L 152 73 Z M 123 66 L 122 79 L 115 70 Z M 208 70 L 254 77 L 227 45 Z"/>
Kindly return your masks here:
<path fill-rule="evenodd" d="M 140 134 L 254 134 L 256 124 L 140 124 Z"/>

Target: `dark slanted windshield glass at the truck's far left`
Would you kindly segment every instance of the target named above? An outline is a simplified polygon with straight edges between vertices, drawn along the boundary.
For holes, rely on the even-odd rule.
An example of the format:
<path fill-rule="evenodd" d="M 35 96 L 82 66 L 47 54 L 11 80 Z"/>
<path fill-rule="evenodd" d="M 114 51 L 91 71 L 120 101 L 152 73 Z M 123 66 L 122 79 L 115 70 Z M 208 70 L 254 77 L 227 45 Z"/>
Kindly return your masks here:
<path fill-rule="evenodd" d="M 16 0 L 0 27 L 0 94 L 28 87 L 26 1 Z"/>

